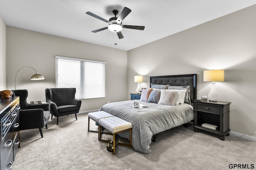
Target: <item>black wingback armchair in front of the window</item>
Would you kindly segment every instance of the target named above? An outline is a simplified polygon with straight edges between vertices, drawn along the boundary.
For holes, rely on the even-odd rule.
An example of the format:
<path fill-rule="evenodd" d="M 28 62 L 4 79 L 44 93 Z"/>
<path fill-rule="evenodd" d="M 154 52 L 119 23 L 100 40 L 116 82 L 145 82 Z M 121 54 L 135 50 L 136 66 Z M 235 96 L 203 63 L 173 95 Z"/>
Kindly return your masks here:
<path fill-rule="evenodd" d="M 50 112 L 57 117 L 75 114 L 79 112 L 81 100 L 75 98 L 76 88 L 46 88 L 46 102 L 50 104 Z M 77 120 L 77 116 L 76 116 Z"/>

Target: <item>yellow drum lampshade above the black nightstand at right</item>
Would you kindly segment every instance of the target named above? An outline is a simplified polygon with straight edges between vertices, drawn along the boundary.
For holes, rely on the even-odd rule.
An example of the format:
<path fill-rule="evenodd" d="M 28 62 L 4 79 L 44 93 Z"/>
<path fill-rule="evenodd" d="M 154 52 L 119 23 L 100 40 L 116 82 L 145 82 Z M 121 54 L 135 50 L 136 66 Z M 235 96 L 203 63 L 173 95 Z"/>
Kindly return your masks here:
<path fill-rule="evenodd" d="M 205 70 L 204 82 L 223 82 L 224 70 Z"/>

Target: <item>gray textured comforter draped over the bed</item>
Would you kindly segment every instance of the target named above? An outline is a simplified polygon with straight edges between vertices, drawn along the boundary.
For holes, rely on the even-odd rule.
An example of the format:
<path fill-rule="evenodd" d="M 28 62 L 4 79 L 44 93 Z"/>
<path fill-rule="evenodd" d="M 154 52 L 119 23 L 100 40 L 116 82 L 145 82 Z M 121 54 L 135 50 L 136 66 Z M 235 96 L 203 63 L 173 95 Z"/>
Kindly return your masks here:
<path fill-rule="evenodd" d="M 134 101 L 148 107 L 132 108 L 126 105 L 132 105 Z M 150 152 L 149 145 L 153 135 L 194 119 L 194 111 L 189 104 L 167 106 L 140 100 L 126 100 L 105 104 L 100 110 L 132 123 L 132 147 L 143 153 Z M 129 139 L 128 133 L 119 135 Z"/>

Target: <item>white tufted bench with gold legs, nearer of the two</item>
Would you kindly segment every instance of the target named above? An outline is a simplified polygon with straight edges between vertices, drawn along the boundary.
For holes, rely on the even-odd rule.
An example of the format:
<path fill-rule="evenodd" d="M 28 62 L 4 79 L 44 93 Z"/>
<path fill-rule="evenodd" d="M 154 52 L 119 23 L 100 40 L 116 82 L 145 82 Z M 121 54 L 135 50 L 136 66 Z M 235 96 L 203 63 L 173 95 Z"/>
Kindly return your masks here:
<path fill-rule="evenodd" d="M 99 123 L 98 125 L 99 141 L 108 142 L 106 140 L 101 139 L 102 127 L 104 127 L 106 130 L 110 131 L 113 134 L 113 146 L 114 146 L 113 154 L 116 154 L 116 134 L 120 132 L 130 131 L 130 144 L 118 143 L 118 145 L 132 147 L 132 123 L 125 121 L 123 119 L 120 119 L 119 117 L 116 117 L 116 116 L 100 119 L 98 123 Z"/>

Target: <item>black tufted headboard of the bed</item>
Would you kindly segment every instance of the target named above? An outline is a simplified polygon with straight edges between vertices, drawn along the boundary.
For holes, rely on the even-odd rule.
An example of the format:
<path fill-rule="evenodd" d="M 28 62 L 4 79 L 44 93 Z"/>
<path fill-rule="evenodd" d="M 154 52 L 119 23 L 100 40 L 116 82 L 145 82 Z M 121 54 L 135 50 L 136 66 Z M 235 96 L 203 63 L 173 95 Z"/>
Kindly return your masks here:
<path fill-rule="evenodd" d="M 150 76 L 150 83 L 163 84 L 171 86 L 187 86 L 190 85 L 190 99 L 193 101 L 196 99 L 196 76 L 197 74 L 182 74 L 171 76 Z M 150 86 L 151 87 L 151 86 Z"/>

